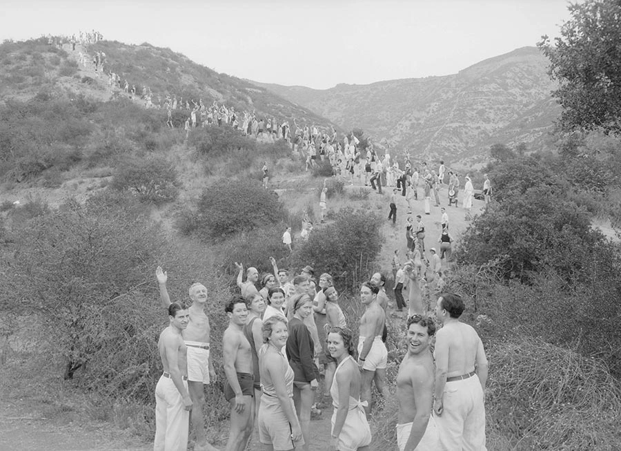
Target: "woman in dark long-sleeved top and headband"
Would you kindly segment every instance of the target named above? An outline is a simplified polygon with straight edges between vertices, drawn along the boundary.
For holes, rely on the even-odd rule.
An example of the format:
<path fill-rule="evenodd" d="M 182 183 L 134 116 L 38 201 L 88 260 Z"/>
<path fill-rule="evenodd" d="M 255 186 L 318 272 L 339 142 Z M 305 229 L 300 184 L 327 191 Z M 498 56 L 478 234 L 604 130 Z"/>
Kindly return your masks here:
<path fill-rule="evenodd" d="M 304 320 L 313 314 L 313 301 L 308 294 L 297 294 L 290 299 L 293 318 L 289 321 L 289 336 L 286 352 L 293 368 L 293 402 L 302 426 L 304 451 L 308 451 L 311 432 L 311 406 L 317 390 L 317 366 L 315 365 L 315 344 Z"/>

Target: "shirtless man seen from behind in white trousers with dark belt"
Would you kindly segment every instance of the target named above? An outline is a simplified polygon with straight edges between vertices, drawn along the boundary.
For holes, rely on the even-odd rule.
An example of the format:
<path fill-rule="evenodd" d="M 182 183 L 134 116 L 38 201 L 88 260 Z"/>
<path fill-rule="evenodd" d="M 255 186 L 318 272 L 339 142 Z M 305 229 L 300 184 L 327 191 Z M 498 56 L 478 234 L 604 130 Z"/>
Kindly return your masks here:
<path fill-rule="evenodd" d="M 435 402 L 442 450 L 486 451 L 484 390 L 487 358 L 483 343 L 470 325 L 461 323 L 461 296 L 444 293 L 435 316 L 442 329 L 435 340 Z M 450 396 L 445 396 L 446 393 Z"/>

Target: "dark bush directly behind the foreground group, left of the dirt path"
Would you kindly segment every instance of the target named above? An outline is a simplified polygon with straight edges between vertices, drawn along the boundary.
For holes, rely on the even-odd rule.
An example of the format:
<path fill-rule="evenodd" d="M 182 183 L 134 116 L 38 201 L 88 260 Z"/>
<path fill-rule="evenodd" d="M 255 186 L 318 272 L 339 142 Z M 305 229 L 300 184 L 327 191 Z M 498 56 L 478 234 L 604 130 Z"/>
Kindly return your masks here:
<path fill-rule="evenodd" d="M 368 268 L 382 249 L 380 219 L 368 211 L 342 209 L 333 224 L 317 229 L 297 252 L 298 265 L 311 265 L 315 273 L 347 276 L 348 287 L 357 284 L 359 270 Z"/>

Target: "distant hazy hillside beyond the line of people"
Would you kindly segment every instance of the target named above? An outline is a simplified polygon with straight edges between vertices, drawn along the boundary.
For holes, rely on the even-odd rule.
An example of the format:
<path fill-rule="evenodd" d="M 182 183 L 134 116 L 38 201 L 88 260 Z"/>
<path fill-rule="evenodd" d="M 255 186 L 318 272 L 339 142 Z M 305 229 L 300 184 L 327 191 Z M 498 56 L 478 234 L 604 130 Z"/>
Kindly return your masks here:
<path fill-rule="evenodd" d="M 455 75 L 339 84 L 327 90 L 255 83 L 328 117 L 348 130 L 415 155 L 470 166 L 496 142 L 549 148 L 547 133 L 560 109 L 551 98 L 547 60 L 524 47 Z"/>

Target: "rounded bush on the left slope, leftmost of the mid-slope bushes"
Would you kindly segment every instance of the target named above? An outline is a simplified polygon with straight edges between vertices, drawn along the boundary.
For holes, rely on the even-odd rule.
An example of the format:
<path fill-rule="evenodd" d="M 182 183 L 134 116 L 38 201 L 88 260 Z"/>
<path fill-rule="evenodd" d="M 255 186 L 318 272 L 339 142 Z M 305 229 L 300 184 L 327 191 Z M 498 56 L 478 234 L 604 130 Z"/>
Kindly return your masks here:
<path fill-rule="evenodd" d="M 110 186 L 129 191 L 143 202 L 161 204 L 177 198 L 181 182 L 175 168 L 164 157 L 150 155 L 120 164 Z"/>

